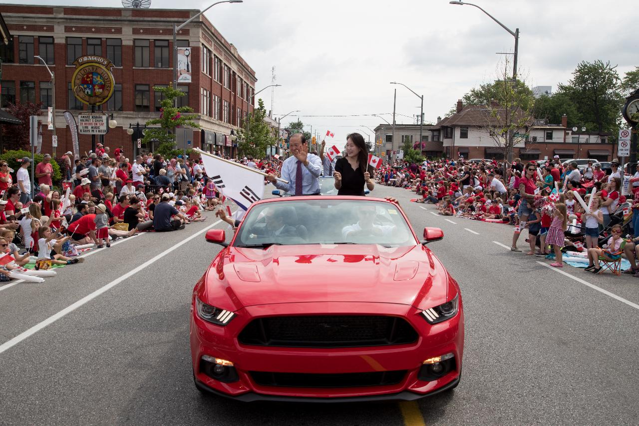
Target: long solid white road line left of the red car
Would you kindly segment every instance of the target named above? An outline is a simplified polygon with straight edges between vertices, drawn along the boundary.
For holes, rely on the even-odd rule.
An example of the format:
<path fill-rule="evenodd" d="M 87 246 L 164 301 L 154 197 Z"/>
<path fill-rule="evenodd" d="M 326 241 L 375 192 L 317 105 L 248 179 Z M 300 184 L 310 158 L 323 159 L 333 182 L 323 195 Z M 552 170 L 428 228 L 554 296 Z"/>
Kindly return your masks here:
<path fill-rule="evenodd" d="M 204 228 L 203 230 L 199 230 L 198 232 L 194 233 L 190 237 L 187 237 L 187 239 L 184 239 L 184 240 L 178 242 L 178 244 L 175 244 L 174 246 L 171 246 L 170 248 L 167 248 L 166 250 L 162 251 L 162 253 L 160 253 L 159 255 L 151 258 L 150 260 L 147 260 L 146 262 L 144 262 L 143 264 L 139 265 L 135 269 L 132 269 L 131 271 L 127 272 L 126 274 L 124 274 L 120 278 L 117 278 L 116 280 L 111 281 L 110 283 L 108 283 L 104 287 L 98 288 L 98 290 L 95 290 L 95 292 L 89 294 L 88 296 L 82 297 L 82 299 L 80 299 L 79 301 L 77 301 L 77 302 L 75 302 L 73 304 L 70 304 L 69 306 L 67 306 L 66 308 L 61 310 L 60 312 L 54 313 L 49 318 L 43 320 L 42 322 L 39 322 L 38 324 L 36 324 L 35 326 L 33 326 L 31 328 L 29 328 L 27 331 L 24 331 L 23 333 L 20 333 L 19 335 L 15 336 L 11 340 L 8 340 L 8 341 L 4 342 L 2 345 L 0 345 L 0 354 L 3 353 L 4 351 L 6 351 L 7 349 L 10 349 L 13 346 L 17 345 L 18 343 L 22 342 L 22 340 L 25 340 L 27 337 L 35 335 L 35 333 L 38 333 L 38 331 L 42 330 L 44 327 L 48 326 L 49 324 L 52 324 L 53 322 L 56 322 L 57 320 L 59 320 L 62 317 L 64 317 L 66 314 L 73 312 L 74 310 L 76 310 L 77 308 L 82 306 L 83 304 L 95 299 L 96 297 L 100 296 L 100 294 L 106 292 L 107 290 L 110 290 L 111 288 L 115 287 L 116 285 L 118 285 L 122 281 L 127 280 L 127 278 L 129 278 L 130 276 L 132 276 L 134 274 L 137 274 L 137 272 L 140 272 L 140 271 L 142 271 L 142 269 L 144 269 L 144 268 L 148 267 L 149 265 L 157 262 L 158 260 L 160 260 L 164 256 L 166 256 L 169 253 L 171 253 L 171 251 L 174 251 L 174 249 L 176 249 L 176 248 L 178 248 L 180 246 L 183 246 L 184 244 L 186 244 L 187 242 L 191 241 L 192 239 L 194 239 L 195 237 L 197 237 L 201 233 L 204 233 L 204 232 L 210 230 L 211 228 L 213 228 L 213 226 L 217 225 L 220 222 L 221 222 L 221 220 L 219 220 L 219 221 L 217 221 L 215 223 L 212 223 L 209 226 L 206 226 L 206 228 Z"/>

